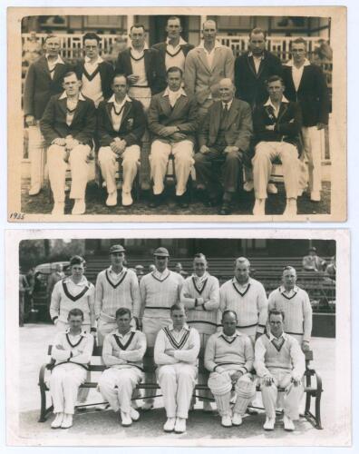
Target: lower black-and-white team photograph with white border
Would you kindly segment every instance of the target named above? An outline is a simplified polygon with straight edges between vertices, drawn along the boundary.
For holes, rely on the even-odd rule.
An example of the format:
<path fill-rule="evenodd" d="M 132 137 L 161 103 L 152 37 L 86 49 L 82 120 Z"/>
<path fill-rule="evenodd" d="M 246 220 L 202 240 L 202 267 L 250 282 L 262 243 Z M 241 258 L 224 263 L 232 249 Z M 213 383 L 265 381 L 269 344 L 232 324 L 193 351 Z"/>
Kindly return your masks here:
<path fill-rule="evenodd" d="M 349 250 L 339 230 L 7 232 L 8 444 L 350 445 Z"/>

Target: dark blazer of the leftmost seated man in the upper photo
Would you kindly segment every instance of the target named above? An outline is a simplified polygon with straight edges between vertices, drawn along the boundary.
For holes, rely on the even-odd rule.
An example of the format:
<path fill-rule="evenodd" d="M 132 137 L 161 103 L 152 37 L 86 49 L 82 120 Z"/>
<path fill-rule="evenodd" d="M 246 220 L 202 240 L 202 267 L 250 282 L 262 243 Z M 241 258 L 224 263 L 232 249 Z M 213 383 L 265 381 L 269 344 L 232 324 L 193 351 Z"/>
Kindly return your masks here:
<path fill-rule="evenodd" d="M 54 139 L 65 138 L 72 135 L 73 139 L 92 146 L 92 138 L 96 130 L 96 109 L 91 99 L 79 99 L 73 114 L 73 123 L 66 123 L 66 98 L 59 99 L 61 94 L 51 97 L 40 121 L 41 132 L 46 145 L 49 146 Z"/>

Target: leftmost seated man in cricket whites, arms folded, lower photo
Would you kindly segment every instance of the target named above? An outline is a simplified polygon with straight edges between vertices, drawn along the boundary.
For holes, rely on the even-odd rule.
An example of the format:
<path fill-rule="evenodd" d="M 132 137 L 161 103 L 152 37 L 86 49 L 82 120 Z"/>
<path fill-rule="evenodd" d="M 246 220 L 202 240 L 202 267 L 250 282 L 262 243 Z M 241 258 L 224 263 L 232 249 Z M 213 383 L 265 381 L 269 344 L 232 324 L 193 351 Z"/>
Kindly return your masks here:
<path fill-rule="evenodd" d="M 69 329 L 56 334 L 51 356 L 54 366 L 50 377 L 50 393 L 55 419 L 53 429 L 69 429 L 80 385 L 86 379 L 92 357 L 93 337 L 82 331 L 83 312 L 72 309 L 68 314 Z"/>

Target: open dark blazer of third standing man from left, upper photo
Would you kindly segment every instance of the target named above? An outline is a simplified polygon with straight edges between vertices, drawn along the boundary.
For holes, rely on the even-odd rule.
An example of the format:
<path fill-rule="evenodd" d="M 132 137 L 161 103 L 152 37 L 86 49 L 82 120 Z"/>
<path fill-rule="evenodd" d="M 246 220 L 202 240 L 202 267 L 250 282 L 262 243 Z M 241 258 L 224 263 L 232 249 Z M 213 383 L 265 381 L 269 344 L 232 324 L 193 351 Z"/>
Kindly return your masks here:
<path fill-rule="evenodd" d="M 150 86 L 151 94 L 158 94 L 166 88 L 166 68 L 160 56 L 160 52 L 156 49 L 144 50 L 144 63 L 147 82 Z M 116 74 L 125 74 L 126 76 L 133 74 L 131 64 L 131 49 L 122 51 L 115 65 Z"/>

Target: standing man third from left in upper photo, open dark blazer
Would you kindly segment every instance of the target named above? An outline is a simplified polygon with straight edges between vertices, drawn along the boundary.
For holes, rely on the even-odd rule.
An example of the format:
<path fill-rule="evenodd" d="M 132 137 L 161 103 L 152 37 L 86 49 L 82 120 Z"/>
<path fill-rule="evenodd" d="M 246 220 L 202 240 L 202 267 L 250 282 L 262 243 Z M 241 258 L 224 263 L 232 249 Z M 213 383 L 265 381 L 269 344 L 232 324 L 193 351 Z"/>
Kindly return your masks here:
<path fill-rule="evenodd" d="M 150 106 L 150 97 L 166 88 L 166 69 L 160 52 L 149 49 L 143 25 L 132 25 L 131 45 L 122 51 L 116 62 L 116 74 L 125 74 L 130 82 L 129 95 Z"/>

